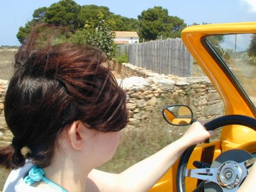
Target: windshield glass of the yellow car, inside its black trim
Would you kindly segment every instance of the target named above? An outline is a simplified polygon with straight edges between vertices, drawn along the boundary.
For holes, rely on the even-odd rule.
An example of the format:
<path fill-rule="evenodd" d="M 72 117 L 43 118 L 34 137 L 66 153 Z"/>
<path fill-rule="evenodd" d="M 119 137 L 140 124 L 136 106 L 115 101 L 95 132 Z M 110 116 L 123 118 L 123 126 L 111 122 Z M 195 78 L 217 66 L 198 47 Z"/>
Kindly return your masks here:
<path fill-rule="evenodd" d="M 256 106 L 256 34 L 214 35 L 206 39 Z"/>

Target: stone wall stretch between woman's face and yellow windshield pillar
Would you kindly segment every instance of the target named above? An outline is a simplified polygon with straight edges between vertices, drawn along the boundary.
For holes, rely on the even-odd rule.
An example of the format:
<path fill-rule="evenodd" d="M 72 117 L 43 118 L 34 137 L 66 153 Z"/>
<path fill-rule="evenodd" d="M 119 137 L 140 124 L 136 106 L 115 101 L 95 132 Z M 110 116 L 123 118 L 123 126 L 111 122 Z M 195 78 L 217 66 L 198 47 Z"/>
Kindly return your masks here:
<path fill-rule="evenodd" d="M 223 104 L 206 77 L 128 77 L 121 82 L 127 90 L 130 125 L 136 126 L 170 104 L 188 105 L 197 120 L 223 115 Z M 162 106 L 159 105 L 161 102 Z"/>

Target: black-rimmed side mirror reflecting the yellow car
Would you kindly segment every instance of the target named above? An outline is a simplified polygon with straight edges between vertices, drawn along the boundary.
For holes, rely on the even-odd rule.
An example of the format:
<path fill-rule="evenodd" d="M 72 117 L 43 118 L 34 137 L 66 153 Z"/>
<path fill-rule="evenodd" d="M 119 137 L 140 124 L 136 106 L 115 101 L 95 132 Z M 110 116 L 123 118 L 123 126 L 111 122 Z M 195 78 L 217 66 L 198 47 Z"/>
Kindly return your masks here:
<path fill-rule="evenodd" d="M 166 106 L 163 109 L 163 118 L 171 125 L 190 125 L 193 123 L 193 112 L 184 105 Z"/>

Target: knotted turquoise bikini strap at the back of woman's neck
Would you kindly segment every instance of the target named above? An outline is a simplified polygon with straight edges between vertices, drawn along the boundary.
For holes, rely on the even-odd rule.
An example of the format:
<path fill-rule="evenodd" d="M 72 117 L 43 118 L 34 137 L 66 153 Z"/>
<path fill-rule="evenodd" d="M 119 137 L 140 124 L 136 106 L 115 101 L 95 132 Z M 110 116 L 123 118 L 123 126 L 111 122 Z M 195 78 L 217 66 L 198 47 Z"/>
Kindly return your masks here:
<path fill-rule="evenodd" d="M 61 186 L 58 186 L 51 180 L 47 179 L 44 175 L 45 175 L 45 172 L 42 168 L 38 168 L 38 166 L 33 165 L 31 167 L 31 170 L 29 170 L 28 175 L 24 177 L 23 180 L 29 186 L 31 186 L 31 184 L 33 184 L 36 181 L 44 180 L 45 183 L 49 184 L 53 188 L 58 189 L 59 191 L 62 191 L 62 192 L 67 192 L 65 189 L 61 188 Z"/>

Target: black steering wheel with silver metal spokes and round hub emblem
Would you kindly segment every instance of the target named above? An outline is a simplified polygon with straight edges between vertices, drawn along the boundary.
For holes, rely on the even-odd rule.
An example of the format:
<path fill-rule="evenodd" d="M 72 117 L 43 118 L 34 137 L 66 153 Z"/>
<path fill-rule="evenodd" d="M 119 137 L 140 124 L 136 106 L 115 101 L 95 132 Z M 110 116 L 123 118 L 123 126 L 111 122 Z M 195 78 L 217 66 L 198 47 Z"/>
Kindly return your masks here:
<path fill-rule="evenodd" d="M 210 131 L 225 125 L 244 125 L 256 131 L 256 119 L 244 115 L 227 115 L 211 120 L 205 124 Z M 236 191 L 248 175 L 247 169 L 255 162 L 256 157 L 245 150 L 228 150 L 211 164 L 211 167 L 187 169 L 186 166 L 196 145 L 189 147 L 180 157 L 177 169 L 177 191 L 185 192 L 185 177 L 203 180 L 196 188 L 204 187 L 205 191 Z"/>

